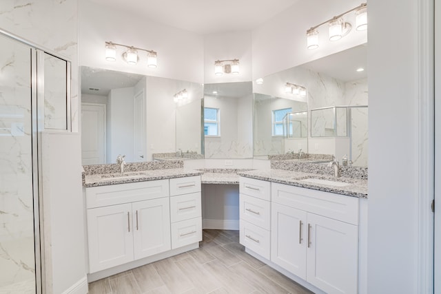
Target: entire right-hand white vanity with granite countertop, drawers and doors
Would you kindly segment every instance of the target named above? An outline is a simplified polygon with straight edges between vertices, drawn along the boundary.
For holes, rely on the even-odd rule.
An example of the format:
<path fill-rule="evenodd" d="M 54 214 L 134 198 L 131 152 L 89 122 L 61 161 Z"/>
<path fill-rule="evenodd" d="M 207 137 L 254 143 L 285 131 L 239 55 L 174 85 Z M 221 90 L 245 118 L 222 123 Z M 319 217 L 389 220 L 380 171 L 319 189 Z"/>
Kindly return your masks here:
<path fill-rule="evenodd" d="M 363 292 L 366 180 L 276 169 L 239 174 L 247 253 L 315 293 Z"/>

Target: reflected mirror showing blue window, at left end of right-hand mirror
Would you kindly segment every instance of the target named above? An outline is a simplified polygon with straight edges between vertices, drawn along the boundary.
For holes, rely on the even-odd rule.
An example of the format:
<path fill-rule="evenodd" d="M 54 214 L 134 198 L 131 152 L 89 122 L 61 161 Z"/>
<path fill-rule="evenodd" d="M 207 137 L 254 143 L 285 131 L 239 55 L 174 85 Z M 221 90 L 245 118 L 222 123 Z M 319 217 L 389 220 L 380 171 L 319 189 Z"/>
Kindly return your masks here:
<path fill-rule="evenodd" d="M 307 150 L 305 112 L 305 102 L 254 94 L 254 157 Z"/>

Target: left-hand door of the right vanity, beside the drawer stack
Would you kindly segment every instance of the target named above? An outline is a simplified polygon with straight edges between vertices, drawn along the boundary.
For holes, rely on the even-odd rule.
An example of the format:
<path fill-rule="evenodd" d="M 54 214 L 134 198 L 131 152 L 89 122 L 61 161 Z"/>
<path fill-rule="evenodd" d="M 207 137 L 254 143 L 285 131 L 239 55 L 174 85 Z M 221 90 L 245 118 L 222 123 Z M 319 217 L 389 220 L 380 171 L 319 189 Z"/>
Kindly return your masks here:
<path fill-rule="evenodd" d="M 307 213 L 273 203 L 271 261 L 306 280 Z"/>

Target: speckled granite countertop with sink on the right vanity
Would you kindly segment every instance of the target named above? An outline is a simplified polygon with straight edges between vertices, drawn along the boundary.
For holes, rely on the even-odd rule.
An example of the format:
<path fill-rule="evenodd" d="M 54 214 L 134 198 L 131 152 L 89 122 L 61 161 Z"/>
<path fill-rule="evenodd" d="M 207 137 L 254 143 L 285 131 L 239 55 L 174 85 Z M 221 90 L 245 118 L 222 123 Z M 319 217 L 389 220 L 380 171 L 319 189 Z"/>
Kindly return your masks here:
<path fill-rule="evenodd" d="M 358 198 L 367 198 L 367 180 L 355 178 L 336 178 L 318 174 L 309 174 L 301 171 L 286 171 L 282 169 L 265 169 L 254 171 L 238 171 L 239 176 L 255 178 L 257 180 L 267 180 L 280 184 L 292 185 L 296 187 L 315 189 L 331 193 Z M 337 187 L 336 185 L 325 185 L 318 182 L 305 181 L 306 179 L 328 180 L 332 182 L 343 182 L 349 185 Z"/>

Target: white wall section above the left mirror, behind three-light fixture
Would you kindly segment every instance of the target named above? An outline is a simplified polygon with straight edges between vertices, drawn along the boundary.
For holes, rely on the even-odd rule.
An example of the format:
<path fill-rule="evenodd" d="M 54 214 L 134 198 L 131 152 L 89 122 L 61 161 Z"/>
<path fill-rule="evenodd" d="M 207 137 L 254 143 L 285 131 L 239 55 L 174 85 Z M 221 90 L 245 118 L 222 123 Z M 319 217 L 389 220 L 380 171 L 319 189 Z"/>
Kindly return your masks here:
<path fill-rule="evenodd" d="M 158 67 L 148 68 L 145 55 L 139 64 L 127 65 L 120 58 L 123 49 L 116 61 L 105 61 L 105 41 L 154 50 Z M 203 37 L 192 32 L 79 0 L 79 42 L 80 65 L 203 83 Z"/>

